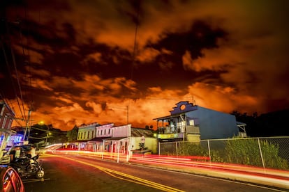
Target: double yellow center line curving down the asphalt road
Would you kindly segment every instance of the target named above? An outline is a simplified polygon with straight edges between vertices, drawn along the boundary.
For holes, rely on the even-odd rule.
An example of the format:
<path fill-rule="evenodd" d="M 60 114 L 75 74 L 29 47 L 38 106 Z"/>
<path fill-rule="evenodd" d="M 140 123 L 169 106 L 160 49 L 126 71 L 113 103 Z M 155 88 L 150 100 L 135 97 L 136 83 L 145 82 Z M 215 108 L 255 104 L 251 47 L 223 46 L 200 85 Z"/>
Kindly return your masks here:
<path fill-rule="evenodd" d="M 45 155 L 48 155 L 50 156 L 49 154 L 45 154 Z M 82 164 L 85 164 L 87 166 L 92 166 L 94 168 L 97 168 L 98 170 L 101 170 L 103 171 L 104 173 L 107 173 L 108 175 L 111 175 L 112 177 L 116 177 L 118 179 L 123 179 L 123 180 L 126 180 L 128 182 L 133 182 L 133 183 L 136 183 L 136 184 L 141 184 L 141 185 L 144 185 L 144 186 L 149 186 L 151 188 L 155 188 L 155 189 L 160 189 L 162 191 L 179 191 L 179 192 L 184 192 L 182 190 L 179 190 L 179 189 L 175 189 L 175 188 L 172 188 L 170 186 L 165 186 L 163 184 L 158 184 L 156 182 L 151 182 L 147 179 L 142 179 L 140 177 L 135 177 L 133 175 L 128 175 L 126 173 L 121 173 L 119 171 L 116 171 L 116 170 L 112 170 L 112 169 L 109 169 L 109 168 L 104 168 L 104 167 L 101 167 L 101 166 L 96 166 L 94 164 L 91 164 L 91 163 L 87 163 L 85 161 L 80 161 L 80 160 L 76 160 L 76 159 L 72 159 L 72 158 L 69 158 L 69 157 L 61 157 L 59 155 L 51 155 L 51 156 L 54 156 L 54 157 L 60 157 L 60 158 L 63 158 L 63 159 L 69 159 L 71 161 L 76 161 L 78 163 L 82 163 Z M 114 173 L 115 175 L 112 175 L 112 173 Z M 120 175 L 121 177 L 117 176 L 117 175 Z M 129 179 L 126 179 L 126 178 L 129 178 Z M 131 180 L 133 179 L 133 180 Z"/>

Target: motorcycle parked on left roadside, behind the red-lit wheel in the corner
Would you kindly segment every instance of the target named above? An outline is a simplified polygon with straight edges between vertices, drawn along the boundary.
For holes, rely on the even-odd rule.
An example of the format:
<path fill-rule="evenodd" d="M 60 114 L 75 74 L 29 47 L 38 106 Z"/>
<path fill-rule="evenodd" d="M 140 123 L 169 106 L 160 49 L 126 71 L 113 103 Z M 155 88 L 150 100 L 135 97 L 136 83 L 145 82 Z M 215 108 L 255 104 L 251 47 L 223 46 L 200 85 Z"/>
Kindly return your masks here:
<path fill-rule="evenodd" d="M 15 159 L 15 161 L 11 161 L 10 166 L 17 170 L 20 177 L 31 177 L 35 175 L 37 179 L 41 179 L 44 177 L 44 169 L 41 168 L 37 160 L 38 158 L 38 154 L 32 158 L 31 155 L 28 154 L 26 157 L 20 157 Z"/>

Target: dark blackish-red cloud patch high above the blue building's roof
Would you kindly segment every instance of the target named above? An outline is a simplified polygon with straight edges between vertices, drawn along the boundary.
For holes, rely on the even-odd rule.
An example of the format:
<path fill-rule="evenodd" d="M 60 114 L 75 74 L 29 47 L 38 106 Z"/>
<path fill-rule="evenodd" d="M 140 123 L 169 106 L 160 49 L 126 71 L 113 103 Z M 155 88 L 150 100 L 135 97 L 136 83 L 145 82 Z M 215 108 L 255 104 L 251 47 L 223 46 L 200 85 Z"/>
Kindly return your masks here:
<path fill-rule="evenodd" d="M 163 38 L 155 43 L 147 42 L 146 48 L 161 52 L 162 49 L 168 53 L 159 54 L 154 61 L 149 63 L 136 63 L 133 68 L 135 81 L 143 81 L 144 86 L 162 85 L 165 88 L 186 88 L 199 77 L 218 77 L 215 70 L 204 72 L 194 72 L 183 65 L 182 57 L 186 51 L 191 53 L 193 59 L 202 57 L 202 49 L 218 47 L 217 40 L 225 38 L 225 31 L 222 29 L 212 29 L 205 21 L 197 20 L 193 22 L 189 31 L 183 33 L 161 34 Z M 222 72 L 219 70 L 218 72 Z M 186 81 L 190 79 L 190 81 Z M 179 84 L 181 83 L 181 85 Z M 141 85 L 140 85 L 141 86 Z"/>

